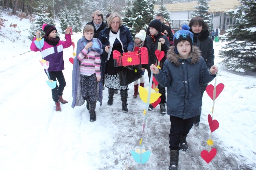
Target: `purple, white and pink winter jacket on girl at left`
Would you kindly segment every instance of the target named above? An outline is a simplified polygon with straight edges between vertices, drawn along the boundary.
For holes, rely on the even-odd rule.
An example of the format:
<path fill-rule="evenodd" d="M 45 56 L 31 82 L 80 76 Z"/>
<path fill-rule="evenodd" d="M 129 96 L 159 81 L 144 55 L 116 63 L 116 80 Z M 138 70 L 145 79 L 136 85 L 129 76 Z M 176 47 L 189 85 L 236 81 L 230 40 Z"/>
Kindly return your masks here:
<path fill-rule="evenodd" d="M 37 38 L 34 37 L 30 45 L 30 50 L 32 51 L 41 51 L 35 46 L 34 40 Z M 49 62 L 48 71 L 61 71 L 64 70 L 64 61 L 63 61 L 63 48 L 68 48 L 71 46 L 71 35 L 65 34 L 66 41 L 59 40 L 56 46 L 49 45 L 44 41 L 44 46 L 42 48 L 42 57 L 44 60 Z"/>

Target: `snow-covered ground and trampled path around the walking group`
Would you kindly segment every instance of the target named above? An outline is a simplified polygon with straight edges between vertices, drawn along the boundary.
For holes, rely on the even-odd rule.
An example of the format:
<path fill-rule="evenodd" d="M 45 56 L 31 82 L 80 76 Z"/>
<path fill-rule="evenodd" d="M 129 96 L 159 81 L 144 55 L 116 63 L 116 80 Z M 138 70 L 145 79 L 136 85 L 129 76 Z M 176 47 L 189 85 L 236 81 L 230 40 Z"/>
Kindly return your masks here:
<path fill-rule="evenodd" d="M 103 90 L 103 104 L 97 103 L 97 121 L 89 121 L 86 106 L 71 108 L 72 47 L 64 50 L 67 86 L 55 112 L 47 76 L 39 64 L 40 52 L 29 50 L 29 20 L 3 14 L 8 23 L 0 30 L 0 169 L 1 170 L 106 170 L 152 169 L 169 166 L 168 115 L 159 114 L 157 106 L 147 115 L 143 149 L 152 151 L 145 164 L 138 164 L 130 151 L 140 148 L 144 103 L 134 99 L 133 84 L 129 85 L 128 113 L 122 113 L 120 94 L 107 105 L 108 90 Z M 16 30 L 9 25 L 16 23 Z M 58 30 L 58 29 L 57 29 Z M 74 34 L 74 42 L 82 34 Z M 61 39 L 63 39 L 61 35 Z M 180 151 L 179 169 L 256 169 L 256 77 L 255 73 L 228 71 L 218 58 L 224 43 L 214 43 L 215 64 L 219 67 L 217 83 L 225 85 L 215 101 L 214 119 L 219 128 L 213 132 L 217 154 L 207 164 L 200 156 L 208 150 L 210 129 L 207 116 L 212 99 L 204 93 L 201 122 L 188 134 L 189 150 Z M 145 73 L 145 86 L 148 78 Z M 210 84 L 214 84 L 212 81 Z"/>

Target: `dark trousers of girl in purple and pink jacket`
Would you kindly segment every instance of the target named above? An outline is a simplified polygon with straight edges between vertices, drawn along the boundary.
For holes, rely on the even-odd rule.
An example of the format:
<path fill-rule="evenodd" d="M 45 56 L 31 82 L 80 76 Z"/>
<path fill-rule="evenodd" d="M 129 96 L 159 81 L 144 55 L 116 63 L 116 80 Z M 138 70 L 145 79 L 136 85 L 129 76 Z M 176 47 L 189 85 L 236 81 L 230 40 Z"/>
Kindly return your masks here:
<path fill-rule="evenodd" d="M 49 76 L 51 80 L 56 81 L 57 79 L 59 82 L 59 86 L 57 84 L 56 87 L 52 89 L 53 100 L 55 102 L 58 102 L 59 100 L 58 96 L 62 96 L 64 87 L 66 86 L 64 75 L 62 71 L 49 71 Z"/>

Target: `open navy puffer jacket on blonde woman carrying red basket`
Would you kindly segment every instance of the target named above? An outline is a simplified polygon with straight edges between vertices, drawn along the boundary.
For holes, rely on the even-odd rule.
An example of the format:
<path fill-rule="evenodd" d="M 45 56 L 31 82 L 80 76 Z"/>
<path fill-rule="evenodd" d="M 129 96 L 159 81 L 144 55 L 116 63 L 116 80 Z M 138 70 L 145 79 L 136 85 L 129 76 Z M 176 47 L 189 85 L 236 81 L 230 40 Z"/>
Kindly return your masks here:
<path fill-rule="evenodd" d="M 125 52 L 127 52 L 128 50 L 133 51 L 134 40 L 131 36 L 129 29 L 122 25 L 121 27 L 119 27 L 119 30 L 120 30 L 120 40 L 124 45 L 124 51 Z M 110 32 L 110 28 L 105 28 L 100 32 L 100 36 L 99 36 L 99 40 L 102 43 L 102 50 L 103 50 L 103 53 L 101 55 L 101 65 L 100 65 L 103 75 L 106 69 L 106 62 L 108 60 L 108 53 L 105 52 L 105 47 L 109 46 L 109 32 Z"/>

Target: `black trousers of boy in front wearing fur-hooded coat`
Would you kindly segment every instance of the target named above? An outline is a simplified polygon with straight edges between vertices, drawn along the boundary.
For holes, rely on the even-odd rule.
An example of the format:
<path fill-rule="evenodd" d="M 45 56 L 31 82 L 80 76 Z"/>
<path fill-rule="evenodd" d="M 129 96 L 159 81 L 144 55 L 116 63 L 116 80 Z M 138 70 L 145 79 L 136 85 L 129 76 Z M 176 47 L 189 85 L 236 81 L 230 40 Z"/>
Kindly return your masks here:
<path fill-rule="evenodd" d="M 169 134 L 169 148 L 170 150 L 180 150 L 179 147 L 181 136 L 187 136 L 190 129 L 194 125 L 196 117 L 189 119 L 182 119 L 175 116 L 170 116 L 171 129 Z"/>

